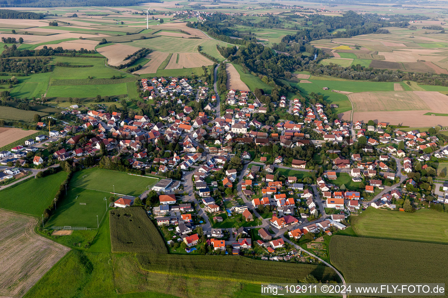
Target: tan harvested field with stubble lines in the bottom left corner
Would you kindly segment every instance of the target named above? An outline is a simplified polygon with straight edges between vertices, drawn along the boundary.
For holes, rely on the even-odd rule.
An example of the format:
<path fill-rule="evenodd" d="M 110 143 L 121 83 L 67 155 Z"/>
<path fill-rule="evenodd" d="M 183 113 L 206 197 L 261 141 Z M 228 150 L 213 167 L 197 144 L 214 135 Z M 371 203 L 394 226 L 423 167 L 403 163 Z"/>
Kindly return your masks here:
<path fill-rule="evenodd" d="M 70 249 L 34 232 L 39 219 L 0 210 L 0 296 L 22 297 Z"/>

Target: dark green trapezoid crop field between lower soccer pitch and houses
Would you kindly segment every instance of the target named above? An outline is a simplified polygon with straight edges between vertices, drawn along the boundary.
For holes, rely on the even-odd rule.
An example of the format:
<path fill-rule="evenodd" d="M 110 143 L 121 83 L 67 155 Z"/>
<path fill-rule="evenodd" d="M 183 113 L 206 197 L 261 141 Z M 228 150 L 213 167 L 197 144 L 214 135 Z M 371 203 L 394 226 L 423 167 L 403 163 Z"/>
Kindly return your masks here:
<path fill-rule="evenodd" d="M 159 230 L 142 207 L 109 211 L 112 252 L 168 253 Z"/>

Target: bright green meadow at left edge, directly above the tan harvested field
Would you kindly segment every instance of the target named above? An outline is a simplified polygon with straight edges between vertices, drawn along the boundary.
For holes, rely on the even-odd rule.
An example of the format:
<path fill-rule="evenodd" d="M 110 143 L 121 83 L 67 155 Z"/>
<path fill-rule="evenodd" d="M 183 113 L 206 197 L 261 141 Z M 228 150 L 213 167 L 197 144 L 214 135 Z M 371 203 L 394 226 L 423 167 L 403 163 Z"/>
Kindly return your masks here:
<path fill-rule="evenodd" d="M 52 204 L 60 184 L 67 178 L 66 172 L 30 178 L 26 182 L 0 191 L 0 208 L 40 216 Z"/>

